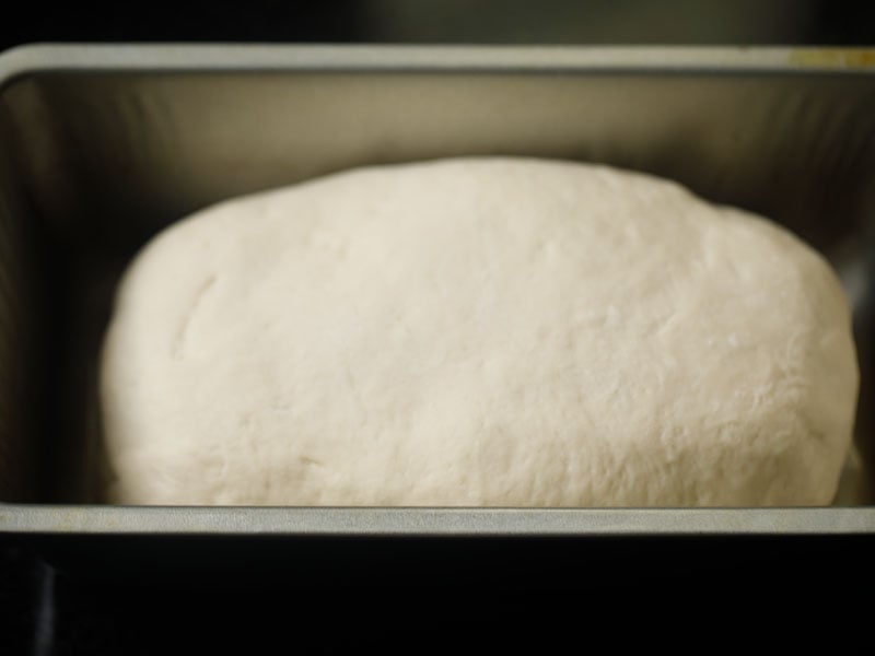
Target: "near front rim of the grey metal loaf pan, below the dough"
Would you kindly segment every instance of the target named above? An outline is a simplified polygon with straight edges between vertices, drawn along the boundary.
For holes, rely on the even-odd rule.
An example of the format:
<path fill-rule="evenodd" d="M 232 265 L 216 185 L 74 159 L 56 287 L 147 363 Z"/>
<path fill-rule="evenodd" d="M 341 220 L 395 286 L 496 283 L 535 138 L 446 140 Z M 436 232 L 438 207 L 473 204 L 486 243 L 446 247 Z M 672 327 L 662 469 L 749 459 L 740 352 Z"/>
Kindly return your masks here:
<path fill-rule="evenodd" d="M 19 532 L 152 536 L 697 536 L 856 535 L 873 507 L 829 508 L 334 508 L 0 506 Z"/>

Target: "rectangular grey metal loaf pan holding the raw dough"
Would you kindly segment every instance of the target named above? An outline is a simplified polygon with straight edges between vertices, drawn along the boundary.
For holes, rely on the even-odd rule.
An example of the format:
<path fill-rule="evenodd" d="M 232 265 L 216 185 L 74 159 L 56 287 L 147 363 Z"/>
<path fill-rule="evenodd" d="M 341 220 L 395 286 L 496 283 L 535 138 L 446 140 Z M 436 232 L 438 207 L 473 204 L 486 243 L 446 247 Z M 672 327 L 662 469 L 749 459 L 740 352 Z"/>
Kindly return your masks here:
<path fill-rule="evenodd" d="M 875 535 L 875 51 L 30 46 L 0 56 L 0 531 L 637 539 Z M 95 353 L 144 242 L 240 194 L 460 154 L 603 162 L 786 225 L 839 270 L 862 388 L 824 508 L 101 504 Z M 276 543 L 276 542 L 275 542 Z"/>

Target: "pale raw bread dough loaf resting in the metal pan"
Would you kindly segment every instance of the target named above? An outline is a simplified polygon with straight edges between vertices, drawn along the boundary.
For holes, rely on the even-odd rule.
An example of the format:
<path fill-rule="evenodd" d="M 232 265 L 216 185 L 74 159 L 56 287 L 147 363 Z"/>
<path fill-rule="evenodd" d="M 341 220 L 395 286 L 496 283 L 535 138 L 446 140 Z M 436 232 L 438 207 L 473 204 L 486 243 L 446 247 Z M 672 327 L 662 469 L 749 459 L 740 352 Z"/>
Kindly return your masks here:
<path fill-rule="evenodd" d="M 859 373 L 825 259 L 672 181 L 453 159 L 207 208 L 127 271 L 128 504 L 824 505 Z"/>

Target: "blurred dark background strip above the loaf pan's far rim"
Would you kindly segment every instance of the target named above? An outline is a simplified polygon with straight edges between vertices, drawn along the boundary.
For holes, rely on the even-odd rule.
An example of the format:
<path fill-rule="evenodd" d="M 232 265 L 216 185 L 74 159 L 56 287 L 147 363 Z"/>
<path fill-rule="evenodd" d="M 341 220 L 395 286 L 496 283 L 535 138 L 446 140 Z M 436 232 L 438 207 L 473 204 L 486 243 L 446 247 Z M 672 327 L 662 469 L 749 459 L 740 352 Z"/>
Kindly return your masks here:
<path fill-rule="evenodd" d="M 14 2 L 34 42 L 871 45 L 875 3 L 825 0 Z"/>

